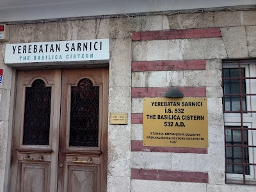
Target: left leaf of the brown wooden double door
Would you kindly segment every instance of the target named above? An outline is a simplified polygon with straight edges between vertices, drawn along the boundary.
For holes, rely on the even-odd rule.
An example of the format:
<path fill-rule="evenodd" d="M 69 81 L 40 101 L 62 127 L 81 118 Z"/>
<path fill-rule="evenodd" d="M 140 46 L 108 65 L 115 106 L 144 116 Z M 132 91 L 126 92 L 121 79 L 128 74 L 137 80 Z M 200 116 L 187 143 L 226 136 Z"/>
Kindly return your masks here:
<path fill-rule="evenodd" d="M 38 81 L 41 82 L 39 88 L 36 83 Z M 47 90 L 46 96 L 40 97 L 43 94 L 40 91 L 44 88 Z M 56 191 L 57 189 L 58 142 L 56 140 L 58 141 L 60 128 L 60 102 L 58 102 L 61 97 L 60 91 L 61 70 L 18 72 L 11 191 L 29 188 L 30 191 L 34 191 L 35 188 L 39 191 Z M 29 92 L 31 94 L 28 94 Z M 45 104 L 44 101 L 49 105 L 42 106 Z M 45 115 L 46 107 L 50 108 L 47 109 L 50 112 L 48 115 Z M 40 111 L 44 111 L 44 114 L 40 114 Z M 53 111 L 55 113 L 52 113 Z M 47 169 L 51 172 L 46 171 Z M 35 179 L 29 181 L 27 177 Z M 38 183 L 38 178 L 42 177 L 45 180 Z M 51 179 L 51 183 L 47 179 Z"/>

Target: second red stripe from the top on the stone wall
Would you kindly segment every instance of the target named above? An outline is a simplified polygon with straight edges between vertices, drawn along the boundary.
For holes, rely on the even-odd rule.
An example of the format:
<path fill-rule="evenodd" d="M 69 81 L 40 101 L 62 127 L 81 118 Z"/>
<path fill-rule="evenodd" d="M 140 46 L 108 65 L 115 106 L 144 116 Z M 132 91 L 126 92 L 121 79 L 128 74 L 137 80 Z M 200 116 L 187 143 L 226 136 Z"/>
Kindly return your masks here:
<path fill-rule="evenodd" d="M 132 72 L 159 70 L 205 70 L 205 60 L 132 62 Z"/>

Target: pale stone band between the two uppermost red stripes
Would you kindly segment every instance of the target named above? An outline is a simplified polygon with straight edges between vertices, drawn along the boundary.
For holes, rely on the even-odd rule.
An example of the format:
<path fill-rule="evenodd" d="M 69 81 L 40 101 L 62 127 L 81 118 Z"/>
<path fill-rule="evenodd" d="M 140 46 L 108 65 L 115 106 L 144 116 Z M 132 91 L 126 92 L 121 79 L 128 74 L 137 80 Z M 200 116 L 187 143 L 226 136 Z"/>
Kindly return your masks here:
<path fill-rule="evenodd" d="M 222 38 L 140 41 L 133 42 L 132 47 L 133 61 L 209 60 L 227 57 Z"/>

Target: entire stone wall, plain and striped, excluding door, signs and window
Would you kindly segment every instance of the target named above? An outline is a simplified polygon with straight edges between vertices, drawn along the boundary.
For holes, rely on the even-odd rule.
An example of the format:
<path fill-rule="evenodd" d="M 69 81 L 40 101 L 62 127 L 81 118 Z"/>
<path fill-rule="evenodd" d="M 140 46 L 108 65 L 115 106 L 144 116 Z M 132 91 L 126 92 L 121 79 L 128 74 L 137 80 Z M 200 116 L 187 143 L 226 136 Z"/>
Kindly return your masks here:
<path fill-rule="evenodd" d="M 110 38 L 108 191 L 255 191 L 225 184 L 221 63 L 256 57 L 256 12 L 218 12 L 10 25 L 0 42 L 0 191 L 8 189 L 15 68 L 5 44 Z M 14 82 L 13 82 L 13 81 Z M 185 97 L 207 97 L 208 148 L 143 147 L 143 98 L 178 86 Z M 186 177 L 182 177 L 186 175 Z"/>

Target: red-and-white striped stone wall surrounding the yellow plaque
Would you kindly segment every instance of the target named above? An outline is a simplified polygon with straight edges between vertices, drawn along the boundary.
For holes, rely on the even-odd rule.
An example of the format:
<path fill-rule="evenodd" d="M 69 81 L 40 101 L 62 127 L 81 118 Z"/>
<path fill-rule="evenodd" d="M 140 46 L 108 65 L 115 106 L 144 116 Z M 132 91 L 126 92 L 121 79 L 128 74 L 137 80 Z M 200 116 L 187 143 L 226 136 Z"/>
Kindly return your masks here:
<path fill-rule="evenodd" d="M 132 191 L 235 191 L 225 184 L 221 60 L 253 57 L 256 44 L 247 31 L 255 22 L 246 17 L 236 25 L 227 19 L 250 13 L 220 13 L 225 24 L 218 14 L 172 15 L 163 17 L 169 28 L 132 33 Z M 208 148 L 142 145 L 143 98 L 163 97 L 170 86 L 184 97 L 207 97 Z M 189 180 L 189 175 L 197 176 Z"/>

